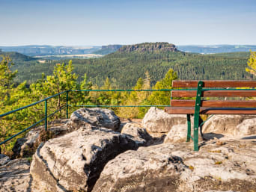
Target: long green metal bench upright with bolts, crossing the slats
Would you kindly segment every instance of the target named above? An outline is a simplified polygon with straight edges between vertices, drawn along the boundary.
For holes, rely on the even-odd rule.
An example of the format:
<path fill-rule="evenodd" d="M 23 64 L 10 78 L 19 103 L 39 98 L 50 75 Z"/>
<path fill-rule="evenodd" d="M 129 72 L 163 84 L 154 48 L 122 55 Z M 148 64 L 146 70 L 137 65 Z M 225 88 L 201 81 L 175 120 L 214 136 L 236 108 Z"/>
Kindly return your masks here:
<path fill-rule="evenodd" d="M 198 90 L 195 98 L 195 114 L 194 114 L 194 151 L 198 151 L 198 129 L 199 129 L 199 114 L 201 106 L 203 81 L 198 81 Z"/>

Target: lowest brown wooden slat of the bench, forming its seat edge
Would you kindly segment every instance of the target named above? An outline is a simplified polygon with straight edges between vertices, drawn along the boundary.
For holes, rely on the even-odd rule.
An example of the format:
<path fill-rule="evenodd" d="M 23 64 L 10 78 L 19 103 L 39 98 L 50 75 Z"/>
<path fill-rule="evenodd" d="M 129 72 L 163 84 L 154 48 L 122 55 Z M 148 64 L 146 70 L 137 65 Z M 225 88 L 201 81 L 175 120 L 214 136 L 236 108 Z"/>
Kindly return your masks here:
<path fill-rule="evenodd" d="M 166 107 L 168 114 L 194 114 L 195 107 Z M 256 108 L 200 108 L 200 114 L 256 114 Z"/>

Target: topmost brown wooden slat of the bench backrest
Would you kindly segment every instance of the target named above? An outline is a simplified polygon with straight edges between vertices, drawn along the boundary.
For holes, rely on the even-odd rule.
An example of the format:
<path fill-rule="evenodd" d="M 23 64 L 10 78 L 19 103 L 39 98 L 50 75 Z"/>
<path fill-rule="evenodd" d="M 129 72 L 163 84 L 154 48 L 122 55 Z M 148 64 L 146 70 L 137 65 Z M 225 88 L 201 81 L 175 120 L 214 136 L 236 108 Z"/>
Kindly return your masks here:
<path fill-rule="evenodd" d="M 198 81 L 172 81 L 172 87 L 198 87 Z M 256 81 L 204 81 L 204 87 L 256 87 Z"/>

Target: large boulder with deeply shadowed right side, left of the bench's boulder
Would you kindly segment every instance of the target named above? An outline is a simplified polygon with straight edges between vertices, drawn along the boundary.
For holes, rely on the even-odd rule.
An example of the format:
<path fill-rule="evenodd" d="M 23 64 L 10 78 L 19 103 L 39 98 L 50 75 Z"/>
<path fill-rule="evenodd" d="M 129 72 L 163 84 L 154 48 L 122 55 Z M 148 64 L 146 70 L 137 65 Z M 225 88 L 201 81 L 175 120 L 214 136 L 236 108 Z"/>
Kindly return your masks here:
<path fill-rule="evenodd" d="M 125 134 L 89 125 L 48 140 L 31 163 L 34 191 L 91 191 L 109 160 L 137 148 Z"/>

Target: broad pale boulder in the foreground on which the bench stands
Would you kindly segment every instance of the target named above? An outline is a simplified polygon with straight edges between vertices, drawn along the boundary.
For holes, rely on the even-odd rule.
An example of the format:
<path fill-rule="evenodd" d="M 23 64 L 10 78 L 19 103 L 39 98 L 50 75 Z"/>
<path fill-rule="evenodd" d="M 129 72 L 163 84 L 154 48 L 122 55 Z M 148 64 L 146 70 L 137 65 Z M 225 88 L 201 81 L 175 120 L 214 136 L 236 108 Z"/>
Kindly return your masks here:
<path fill-rule="evenodd" d="M 109 161 L 93 192 L 254 191 L 255 150 L 252 141 L 218 146 L 211 140 L 199 152 L 192 143 L 140 147 Z"/>

